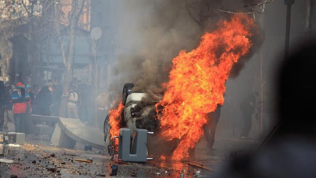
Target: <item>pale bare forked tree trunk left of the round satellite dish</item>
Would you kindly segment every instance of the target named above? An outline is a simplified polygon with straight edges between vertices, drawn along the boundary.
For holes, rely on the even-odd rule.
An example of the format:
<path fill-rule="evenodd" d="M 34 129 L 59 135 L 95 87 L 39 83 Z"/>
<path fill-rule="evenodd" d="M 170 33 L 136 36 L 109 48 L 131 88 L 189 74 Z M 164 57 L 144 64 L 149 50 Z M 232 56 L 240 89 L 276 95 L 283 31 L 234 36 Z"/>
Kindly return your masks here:
<path fill-rule="evenodd" d="M 62 60 L 65 67 L 64 80 L 63 80 L 63 93 L 68 92 L 71 80 L 71 69 L 72 62 L 74 58 L 74 48 L 75 48 L 75 27 L 78 24 L 79 17 L 83 11 L 85 0 L 72 0 L 71 10 L 69 14 L 69 24 L 67 27 L 61 25 L 61 15 L 62 15 L 62 5 L 60 0 L 53 0 L 54 7 L 54 25 L 56 30 L 56 36 L 59 41 L 59 46 L 61 50 Z M 67 28 L 69 31 L 69 41 L 67 49 L 62 40 L 60 33 L 61 28 Z M 65 116 L 66 113 L 66 99 L 63 98 L 61 101 L 59 115 Z"/>

